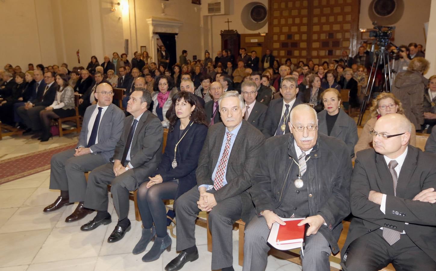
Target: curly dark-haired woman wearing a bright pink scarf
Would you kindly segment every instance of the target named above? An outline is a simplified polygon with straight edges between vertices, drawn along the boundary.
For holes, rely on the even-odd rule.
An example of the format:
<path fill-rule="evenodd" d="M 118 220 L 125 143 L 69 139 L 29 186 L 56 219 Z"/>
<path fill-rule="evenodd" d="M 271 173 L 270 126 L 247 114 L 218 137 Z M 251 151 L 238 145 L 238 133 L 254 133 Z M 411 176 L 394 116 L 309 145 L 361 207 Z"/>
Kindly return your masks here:
<path fill-rule="evenodd" d="M 174 81 L 171 77 L 160 75 L 154 81 L 154 90 L 157 92 L 152 97 L 153 114 L 160 119 L 164 128 L 168 128 L 169 121 L 166 114 L 171 106 L 171 98 L 177 93 L 177 88 L 174 88 Z"/>

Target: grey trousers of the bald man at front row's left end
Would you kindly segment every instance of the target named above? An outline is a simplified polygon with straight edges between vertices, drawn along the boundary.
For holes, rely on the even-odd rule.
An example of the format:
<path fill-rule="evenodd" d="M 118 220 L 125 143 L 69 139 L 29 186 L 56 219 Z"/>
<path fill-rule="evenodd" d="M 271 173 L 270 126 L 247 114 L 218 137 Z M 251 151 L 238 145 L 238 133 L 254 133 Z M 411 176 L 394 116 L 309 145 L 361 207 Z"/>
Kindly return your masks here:
<path fill-rule="evenodd" d="M 104 165 L 99 153 L 74 156 L 75 150 L 68 149 L 51 156 L 50 189 L 68 191 L 70 202 L 85 200 L 85 172 Z"/>

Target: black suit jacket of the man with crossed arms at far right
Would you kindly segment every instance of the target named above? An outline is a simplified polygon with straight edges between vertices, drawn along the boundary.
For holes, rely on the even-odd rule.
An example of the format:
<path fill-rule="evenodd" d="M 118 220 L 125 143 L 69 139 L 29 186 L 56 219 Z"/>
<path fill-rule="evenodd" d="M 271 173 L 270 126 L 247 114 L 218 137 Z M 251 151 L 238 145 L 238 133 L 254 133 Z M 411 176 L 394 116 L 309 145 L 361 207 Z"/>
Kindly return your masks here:
<path fill-rule="evenodd" d="M 357 238 L 391 225 L 399 232 L 404 230 L 416 246 L 436 261 L 436 204 L 412 200 L 422 190 L 436 187 L 434 154 L 409 145 L 398 177 L 397 196 L 394 196 L 392 176 L 383 155 L 374 149 L 357 152 L 350 186 L 354 217 L 341 257 Z M 380 211 L 380 205 L 368 200 L 371 190 L 387 195 L 385 214 Z M 381 238 L 380 241 L 385 242 Z"/>

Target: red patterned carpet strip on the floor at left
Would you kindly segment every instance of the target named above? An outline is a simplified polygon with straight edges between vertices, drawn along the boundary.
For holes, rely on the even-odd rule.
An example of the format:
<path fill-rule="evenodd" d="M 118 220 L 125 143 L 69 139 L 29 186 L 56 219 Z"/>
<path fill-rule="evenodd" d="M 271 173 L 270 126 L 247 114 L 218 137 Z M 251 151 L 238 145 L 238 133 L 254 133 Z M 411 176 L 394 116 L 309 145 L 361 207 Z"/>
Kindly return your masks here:
<path fill-rule="evenodd" d="M 50 168 L 51 156 L 75 148 L 77 144 L 65 144 L 50 149 L 0 160 L 0 184 L 23 178 Z"/>

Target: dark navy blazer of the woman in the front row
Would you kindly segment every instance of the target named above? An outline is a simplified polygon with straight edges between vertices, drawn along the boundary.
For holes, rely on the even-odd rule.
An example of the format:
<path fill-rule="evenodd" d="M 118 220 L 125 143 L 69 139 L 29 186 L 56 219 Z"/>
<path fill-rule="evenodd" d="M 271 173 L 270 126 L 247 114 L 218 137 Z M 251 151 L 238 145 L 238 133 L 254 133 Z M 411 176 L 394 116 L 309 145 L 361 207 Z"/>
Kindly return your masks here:
<path fill-rule="evenodd" d="M 189 125 L 186 127 L 182 136 L 185 132 L 186 135 L 177 145 L 177 167 L 173 169 L 171 163 L 174 160 L 174 146 L 181 139 L 180 120 L 177 120 L 174 130 L 168 133 L 167 146 L 165 146 L 162 161 L 160 161 L 156 170 L 156 174 L 160 174 L 164 182 L 179 180 L 174 200 L 197 184 L 195 170 L 198 166 L 198 158 L 200 157 L 201 148 L 203 148 L 204 139 L 206 139 L 208 133 L 208 126 L 194 123 L 191 127 Z"/>

